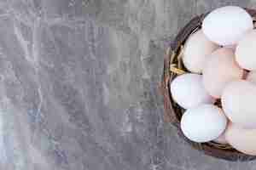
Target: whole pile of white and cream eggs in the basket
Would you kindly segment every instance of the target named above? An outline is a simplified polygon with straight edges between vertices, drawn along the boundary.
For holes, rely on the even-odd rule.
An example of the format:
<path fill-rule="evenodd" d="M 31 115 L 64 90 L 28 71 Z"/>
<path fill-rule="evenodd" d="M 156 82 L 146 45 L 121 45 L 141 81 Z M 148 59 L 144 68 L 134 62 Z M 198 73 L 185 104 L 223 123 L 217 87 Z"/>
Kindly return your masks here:
<path fill-rule="evenodd" d="M 190 73 L 170 83 L 172 99 L 186 109 L 181 129 L 188 139 L 256 156 L 255 50 L 253 18 L 236 6 L 213 10 L 190 35 L 183 48 Z"/>

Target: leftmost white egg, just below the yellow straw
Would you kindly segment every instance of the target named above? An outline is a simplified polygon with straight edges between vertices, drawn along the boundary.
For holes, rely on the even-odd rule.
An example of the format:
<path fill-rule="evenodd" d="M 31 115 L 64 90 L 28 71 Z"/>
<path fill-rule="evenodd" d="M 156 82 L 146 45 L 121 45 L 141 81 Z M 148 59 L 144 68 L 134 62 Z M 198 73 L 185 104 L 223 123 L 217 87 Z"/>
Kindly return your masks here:
<path fill-rule="evenodd" d="M 202 76 L 183 74 L 171 82 L 172 98 L 185 109 L 201 104 L 212 104 L 214 99 L 207 94 L 202 84 Z"/>

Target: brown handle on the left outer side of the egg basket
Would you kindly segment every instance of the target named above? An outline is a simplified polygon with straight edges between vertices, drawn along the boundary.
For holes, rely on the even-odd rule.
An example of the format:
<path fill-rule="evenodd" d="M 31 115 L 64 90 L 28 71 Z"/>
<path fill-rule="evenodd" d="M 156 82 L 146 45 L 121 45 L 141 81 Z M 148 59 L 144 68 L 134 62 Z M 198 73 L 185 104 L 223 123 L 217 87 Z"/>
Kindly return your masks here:
<path fill-rule="evenodd" d="M 173 109 L 172 109 L 172 103 L 171 103 L 171 94 L 169 91 L 169 82 L 170 82 L 170 58 L 172 55 L 172 49 L 167 48 L 165 58 L 164 58 L 164 69 L 163 69 L 163 76 L 162 80 L 160 82 L 160 93 L 164 97 L 164 120 L 165 122 L 172 122 L 177 123 L 177 116 L 175 115 Z"/>

